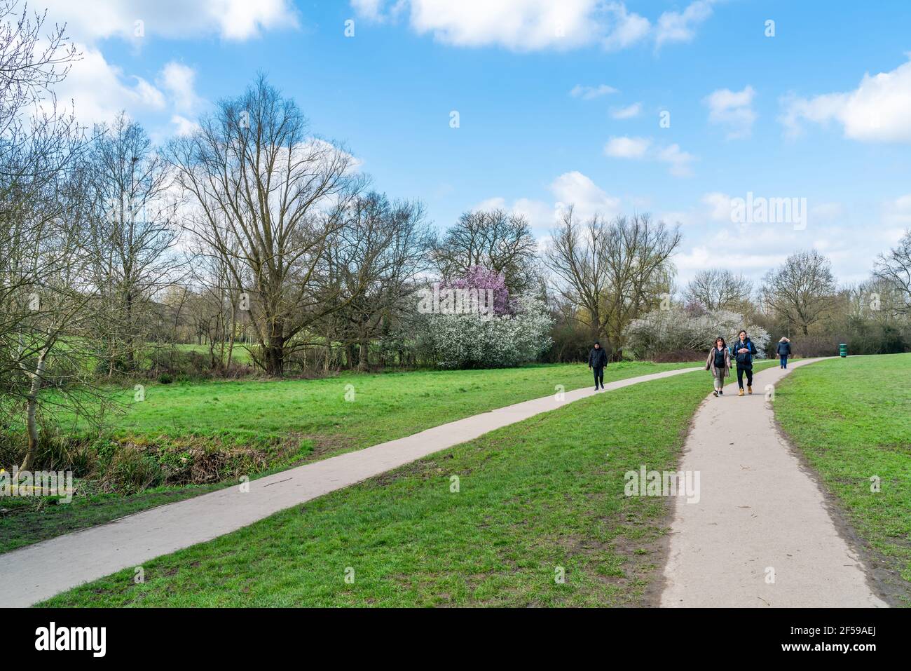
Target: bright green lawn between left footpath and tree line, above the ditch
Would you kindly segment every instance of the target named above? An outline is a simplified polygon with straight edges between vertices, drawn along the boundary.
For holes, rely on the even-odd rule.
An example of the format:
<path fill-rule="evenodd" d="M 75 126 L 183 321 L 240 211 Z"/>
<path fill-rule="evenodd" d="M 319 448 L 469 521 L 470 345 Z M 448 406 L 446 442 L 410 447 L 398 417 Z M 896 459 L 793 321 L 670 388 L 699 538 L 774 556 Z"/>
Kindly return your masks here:
<path fill-rule="evenodd" d="M 687 366 L 692 364 L 613 364 L 605 381 Z M 312 440 L 314 451 L 324 456 L 548 396 L 556 385 L 586 387 L 590 379 L 589 369 L 577 364 L 155 384 L 146 387 L 140 402 L 133 400 L 133 389 L 119 392 L 118 401 L 128 409 L 111 418 L 111 428 L 122 437 L 217 437 L 241 444 L 267 435 L 295 436 Z M 61 422 L 67 425 L 67 417 Z M 86 428 L 76 421 L 72 429 Z"/>

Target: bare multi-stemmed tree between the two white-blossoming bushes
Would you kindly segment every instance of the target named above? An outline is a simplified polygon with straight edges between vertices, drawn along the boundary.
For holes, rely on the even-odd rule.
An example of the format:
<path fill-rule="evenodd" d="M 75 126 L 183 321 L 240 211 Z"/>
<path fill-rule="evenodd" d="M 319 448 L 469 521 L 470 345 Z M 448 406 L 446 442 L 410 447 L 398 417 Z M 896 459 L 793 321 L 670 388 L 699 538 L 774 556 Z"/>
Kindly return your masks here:
<path fill-rule="evenodd" d="M 592 337 L 607 336 L 613 356 L 621 356 L 630 322 L 670 291 L 680 228 L 647 214 L 610 223 L 596 215 L 580 224 L 570 208 L 551 237 L 546 258 L 555 290 L 578 308 Z"/>

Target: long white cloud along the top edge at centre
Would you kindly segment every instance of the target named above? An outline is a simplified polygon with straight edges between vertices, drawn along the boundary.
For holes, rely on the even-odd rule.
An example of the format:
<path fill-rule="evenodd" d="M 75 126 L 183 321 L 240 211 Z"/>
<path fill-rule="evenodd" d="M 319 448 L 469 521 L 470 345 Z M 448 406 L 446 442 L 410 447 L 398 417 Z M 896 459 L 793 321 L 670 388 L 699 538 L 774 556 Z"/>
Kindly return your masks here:
<path fill-rule="evenodd" d="M 357 15 L 382 22 L 408 14 L 418 35 L 454 46 L 503 46 L 513 51 L 600 45 L 619 51 L 643 42 L 692 39 L 711 15 L 713 0 L 696 0 L 682 13 L 665 12 L 657 24 L 622 2 L 603 0 L 351 0 Z"/>

